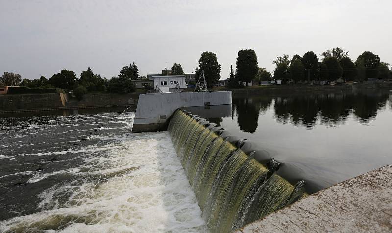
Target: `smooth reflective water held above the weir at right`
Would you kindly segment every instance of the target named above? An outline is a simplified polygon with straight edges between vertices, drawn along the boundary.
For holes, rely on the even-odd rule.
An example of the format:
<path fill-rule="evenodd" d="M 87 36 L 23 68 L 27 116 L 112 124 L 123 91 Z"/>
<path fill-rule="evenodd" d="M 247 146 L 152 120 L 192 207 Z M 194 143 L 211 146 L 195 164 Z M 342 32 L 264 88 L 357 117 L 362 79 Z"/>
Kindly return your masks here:
<path fill-rule="evenodd" d="M 232 116 L 209 120 L 283 163 L 310 192 L 392 163 L 388 91 L 236 95 Z"/>

